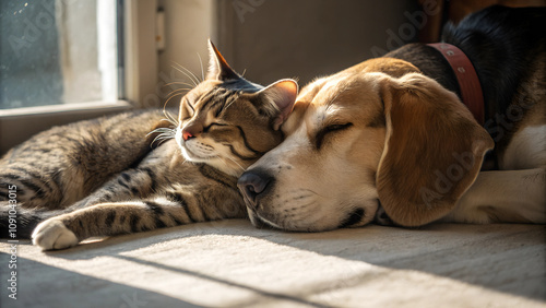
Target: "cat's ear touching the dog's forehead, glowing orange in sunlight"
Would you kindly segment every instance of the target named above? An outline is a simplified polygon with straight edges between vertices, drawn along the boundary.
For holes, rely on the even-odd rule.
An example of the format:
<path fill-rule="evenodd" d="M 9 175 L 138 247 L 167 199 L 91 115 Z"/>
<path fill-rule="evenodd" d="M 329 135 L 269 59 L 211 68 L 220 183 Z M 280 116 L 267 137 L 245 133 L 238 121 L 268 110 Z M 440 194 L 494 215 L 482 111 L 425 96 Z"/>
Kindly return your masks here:
<path fill-rule="evenodd" d="M 283 79 L 268 87 L 258 92 L 259 95 L 265 96 L 269 102 L 276 105 L 280 112 L 273 121 L 273 128 L 278 130 L 281 125 L 286 120 L 292 112 L 296 97 L 298 96 L 298 83 L 292 79 Z"/>

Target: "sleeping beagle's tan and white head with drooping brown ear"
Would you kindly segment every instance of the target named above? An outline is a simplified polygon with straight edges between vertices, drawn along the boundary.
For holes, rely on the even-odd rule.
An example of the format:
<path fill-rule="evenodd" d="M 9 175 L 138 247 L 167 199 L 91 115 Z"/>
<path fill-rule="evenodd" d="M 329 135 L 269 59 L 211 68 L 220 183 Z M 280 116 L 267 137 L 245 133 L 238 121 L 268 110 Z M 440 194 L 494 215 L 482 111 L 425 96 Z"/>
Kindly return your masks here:
<path fill-rule="evenodd" d="M 492 147 L 487 132 L 436 81 L 376 64 L 301 91 L 285 141 L 239 179 L 254 225 L 361 226 L 381 203 L 394 223 L 418 226 L 449 213 L 472 185 Z"/>

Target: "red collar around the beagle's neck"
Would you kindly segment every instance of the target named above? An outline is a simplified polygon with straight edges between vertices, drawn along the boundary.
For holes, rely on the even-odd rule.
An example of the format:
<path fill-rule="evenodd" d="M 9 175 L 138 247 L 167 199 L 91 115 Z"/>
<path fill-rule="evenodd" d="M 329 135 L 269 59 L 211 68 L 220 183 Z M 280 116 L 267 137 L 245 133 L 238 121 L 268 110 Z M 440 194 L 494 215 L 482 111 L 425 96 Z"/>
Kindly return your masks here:
<path fill-rule="evenodd" d="M 471 60 L 458 47 L 447 43 L 427 44 L 440 51 L 455 73 L 463 104 L 478 123 L 484 125 L 484 94 Z"/>

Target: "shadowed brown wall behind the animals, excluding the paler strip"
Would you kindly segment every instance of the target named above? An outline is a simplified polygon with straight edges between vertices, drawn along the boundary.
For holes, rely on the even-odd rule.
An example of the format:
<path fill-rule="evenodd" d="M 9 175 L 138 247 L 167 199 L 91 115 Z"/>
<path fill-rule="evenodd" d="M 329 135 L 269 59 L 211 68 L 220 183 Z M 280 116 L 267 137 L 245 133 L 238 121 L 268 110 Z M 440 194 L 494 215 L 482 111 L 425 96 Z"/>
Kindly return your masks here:
<path fill-rule="evenodd" d="M 387 50 L 392 43 L 388 32 L 397 34 L 407 23 L 404 13 L 417 11 L 416 2 L 219 1 L 218 48 L 237 71 L 247 70 L 250 80 L 299 78 L 305 84 L 371 58 L 375 46 Z"/>

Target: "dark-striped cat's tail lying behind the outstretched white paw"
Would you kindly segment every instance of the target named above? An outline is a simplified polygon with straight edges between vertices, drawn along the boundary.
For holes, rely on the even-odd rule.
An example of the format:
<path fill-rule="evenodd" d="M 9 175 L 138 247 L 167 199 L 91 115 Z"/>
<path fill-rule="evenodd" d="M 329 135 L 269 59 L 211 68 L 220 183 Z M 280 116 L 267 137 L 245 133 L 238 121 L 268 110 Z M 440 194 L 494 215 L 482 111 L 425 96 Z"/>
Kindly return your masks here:
<path fill-rule="evenodd" d="M 0 238 L 31 239 L 39 223 L 59 214 L 60 211 L 20 209 L 0 202 Z"/>

